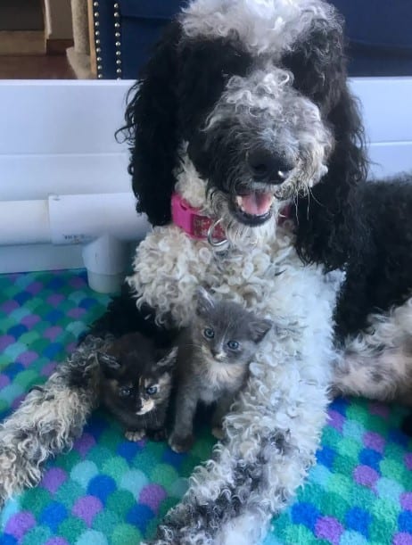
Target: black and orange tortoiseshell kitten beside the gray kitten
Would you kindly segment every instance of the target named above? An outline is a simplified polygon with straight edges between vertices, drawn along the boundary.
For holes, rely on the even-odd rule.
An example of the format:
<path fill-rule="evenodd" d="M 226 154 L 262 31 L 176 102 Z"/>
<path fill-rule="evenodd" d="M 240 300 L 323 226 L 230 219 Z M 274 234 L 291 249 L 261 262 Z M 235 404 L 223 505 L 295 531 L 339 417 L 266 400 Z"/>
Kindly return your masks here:
<path fill-rule="evenodd" d="M 126 427 L 129 441 L 145 435 L 165 439 L 177 347 L 155 348 L 142 334 L 125 334 L 114 339 L 105 353 L 98 354 L 102 368 L 100 401 Z"/>

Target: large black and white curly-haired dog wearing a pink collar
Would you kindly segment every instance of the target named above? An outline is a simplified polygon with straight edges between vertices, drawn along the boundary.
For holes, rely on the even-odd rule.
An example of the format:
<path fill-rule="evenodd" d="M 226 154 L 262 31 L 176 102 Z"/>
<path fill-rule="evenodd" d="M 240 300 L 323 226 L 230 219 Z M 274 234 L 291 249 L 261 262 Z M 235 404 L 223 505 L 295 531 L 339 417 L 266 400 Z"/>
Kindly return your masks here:
<path fill-rule="evenodd" d="M 203 285 L 276 327 L 154 542 L 251 545 L 314 462 L 330 392 L 409 397 L 411 186 L 365 181 L 342 21 L 322 0 L 189 2 L 126 120 L 137 210 L 155 227 L 95 336 L 4 423 L 1 493 L 37 483 L 80 433 L 105 329 L 186 326 Z"/>

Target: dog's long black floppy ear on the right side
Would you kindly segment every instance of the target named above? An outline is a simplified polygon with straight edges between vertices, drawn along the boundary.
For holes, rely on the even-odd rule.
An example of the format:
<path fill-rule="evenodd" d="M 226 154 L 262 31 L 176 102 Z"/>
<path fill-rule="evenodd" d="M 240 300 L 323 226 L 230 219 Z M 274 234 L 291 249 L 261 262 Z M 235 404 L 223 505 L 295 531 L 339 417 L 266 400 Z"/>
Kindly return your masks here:
<path fill-rule="evenodd" d="M 325 268 L 342 267 L 352 252 L 351 194 L 367 177 L 363 125 L 347 84 L 343 22 L 319 20 L 305 39 L 284 57 L 293 71 L 294 87 L 317 103 L 325 123 L 334 133 L 334 151 L 328 172 L 310 194 L 298 201 L 297 250 L 307 262 Z"/>

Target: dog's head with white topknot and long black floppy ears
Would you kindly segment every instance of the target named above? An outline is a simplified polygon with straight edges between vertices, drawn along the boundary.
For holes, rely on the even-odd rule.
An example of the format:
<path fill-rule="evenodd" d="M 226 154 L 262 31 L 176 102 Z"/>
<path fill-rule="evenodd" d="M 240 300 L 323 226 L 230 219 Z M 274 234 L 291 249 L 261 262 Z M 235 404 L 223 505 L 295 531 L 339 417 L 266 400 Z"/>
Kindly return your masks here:
<path fill-rule="evenodd" d="M 325 261 L 365 175 L 342 21 L 322 0 L 193 0 L 134 87 L 127 128 L 137 207 L 153 224 L 170 219 L 185 143 L 227 221 L 256 227 L 294 202 L 309 260 Z"/>

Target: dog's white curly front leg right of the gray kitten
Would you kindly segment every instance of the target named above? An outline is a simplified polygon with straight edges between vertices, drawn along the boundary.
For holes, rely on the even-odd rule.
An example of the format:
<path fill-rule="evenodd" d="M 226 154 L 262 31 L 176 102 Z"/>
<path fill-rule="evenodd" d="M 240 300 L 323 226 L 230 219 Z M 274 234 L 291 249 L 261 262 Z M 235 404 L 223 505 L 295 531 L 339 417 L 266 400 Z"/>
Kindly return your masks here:
<path fill-rule="evenodd" d="M 307 364 L 301 373 L 298 362 L 282 364 L 262 366 L 261 375 L 251 377 L 224 420 L 226 439 L 194 471 L 184 499 L 152 543 L 255 545 L 271 516 L 293 497 L 315 460 L 325 424 L 321 377 L 327 371 Z"/>

